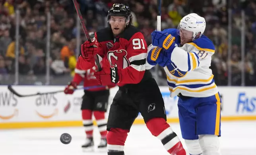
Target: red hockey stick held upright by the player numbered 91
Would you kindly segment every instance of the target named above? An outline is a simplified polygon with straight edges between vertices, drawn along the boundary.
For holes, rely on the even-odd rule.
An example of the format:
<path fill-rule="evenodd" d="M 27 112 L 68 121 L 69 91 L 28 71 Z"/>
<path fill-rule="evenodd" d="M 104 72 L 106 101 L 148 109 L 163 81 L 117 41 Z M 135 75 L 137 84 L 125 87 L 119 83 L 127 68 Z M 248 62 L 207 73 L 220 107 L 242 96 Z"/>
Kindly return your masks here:
<path fill-rule="evenodd" d="M 86 26 L 85 26 L 82 13 L 81 13 L 80 9 L 78 8 L 78 1 L 77 1 L 77 0 L 73 0 L 73 3 L 74 3 L 74 6 L 75 6 L 75 8 L 76 8 L 76 13 L 78 14 L 78 17 L 79 17 L 79 19 L 80 19 L 80 23 L 81 23 L 82 28 L 83 28 L 83 33 L 85 34 L 87 40 L 88 40 L 89 42 L 91 42 L 91 38 L 90 38 L 89 32 L 87 31 L 87 28 L 86 28 Z M 101 68 L 101 65 L 100 65 L 100 63 L 99 63 L 99 59 L 98 59 L 97 55 L 94 55 L 94 60 L 95 60 L 95 63 L 96 63 L 96 65 L 97 65 L 97 67 L 98 67 L 98 71 L 101 71 L 102 68 Z"/>

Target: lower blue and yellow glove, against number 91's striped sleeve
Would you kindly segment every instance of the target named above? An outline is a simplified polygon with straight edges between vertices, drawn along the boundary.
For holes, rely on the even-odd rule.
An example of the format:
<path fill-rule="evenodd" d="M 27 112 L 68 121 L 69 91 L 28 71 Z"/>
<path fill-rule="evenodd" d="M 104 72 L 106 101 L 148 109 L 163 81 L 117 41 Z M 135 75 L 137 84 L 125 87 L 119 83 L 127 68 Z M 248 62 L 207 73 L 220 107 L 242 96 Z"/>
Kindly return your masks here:
<path fill-rule="evenodd" d="M 147 62 L 151 65 L 159 64 L 162 67 L 171 64 L 171 53 L 166 52 L 160 47 L 151 49 L 147 55 Z"/>

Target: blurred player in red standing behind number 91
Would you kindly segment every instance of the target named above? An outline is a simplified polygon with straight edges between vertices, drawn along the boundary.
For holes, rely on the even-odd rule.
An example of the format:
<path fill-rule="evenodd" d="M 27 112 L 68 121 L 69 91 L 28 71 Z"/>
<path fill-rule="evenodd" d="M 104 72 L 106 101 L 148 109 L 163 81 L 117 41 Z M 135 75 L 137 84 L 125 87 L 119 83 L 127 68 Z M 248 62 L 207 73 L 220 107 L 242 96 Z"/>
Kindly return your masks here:
<path fill-rule="evenodd" d="M 90 33 L 90 37 L 93 38 L 94 33 Z M 81 81 L 83 81 L 84 87 L 99 85 L 96 77 L 94 76 L 94 70 L 82 70 L 79 65 L 76 65 L 75 76 L 66 86 L 64 93 L 73 94 L 74 89 L 77 88 L 77 85 L 79 85 Z M 83 101 L 81 104 L 83 126 L 86 133 L 85 144 L 82 145 L 84 151 L 91 151 L 94 147 L 92 114 L 96 119 L 99 132 L 101 134 L 101 142 L 98 148 L 105 149 L 107 147 L 107 120 L 105 119 L 105 112 L 107 112 L 109 88 L 114 86 L 115 84 L 113 83 L 106 87 L 102 86 L 84 91 Z"/>

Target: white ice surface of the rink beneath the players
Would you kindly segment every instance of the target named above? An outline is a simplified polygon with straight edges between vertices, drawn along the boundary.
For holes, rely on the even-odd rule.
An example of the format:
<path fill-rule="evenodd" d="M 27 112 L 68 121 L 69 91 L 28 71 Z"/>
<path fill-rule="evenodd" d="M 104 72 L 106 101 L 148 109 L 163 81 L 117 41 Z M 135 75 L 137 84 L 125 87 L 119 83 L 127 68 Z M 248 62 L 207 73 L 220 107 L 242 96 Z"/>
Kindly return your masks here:
<path fill-rule="evenodd" d="M 181 137 L 179 125 L 171 126 Z M 221 129 L 222 155 L 256 155 L 256 121 L 223 122 Z M 60 135 L 65 132 L 72 136 L 68 145 L 60 142 Z M 97 145 L 100 139 L 97 127 L 93 134 Z M 0 155 L 107 155 L 97 150 L 83 152 L 81 145 L 84 139 L 83 127 L 0 130 Z M 132 127 L 126 140 L 125 154 L 168 155 L 145 125 Z"/>

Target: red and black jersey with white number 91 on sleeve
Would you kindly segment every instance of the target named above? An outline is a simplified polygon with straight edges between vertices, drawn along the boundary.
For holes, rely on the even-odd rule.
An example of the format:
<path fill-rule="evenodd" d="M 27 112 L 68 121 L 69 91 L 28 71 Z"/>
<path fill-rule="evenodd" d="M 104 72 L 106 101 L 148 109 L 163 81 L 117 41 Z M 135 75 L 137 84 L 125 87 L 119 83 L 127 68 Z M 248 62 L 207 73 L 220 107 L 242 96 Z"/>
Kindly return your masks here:
<path fill-rule="evenodd" d="M 151 77 L 150 72 L 145 70 L 147 43 L 143 34 L 134 26 L 128 26 L 116 37 L 110 27 L 104 28 L 95 33 L 93 41 L 99 44 L 99 60 L 107 61 L 118 68 L 118 74 L 121 75 L 118 86 L 137 84 L 143 78 Z M 93 59 L 86 61 L 80 56 L 78 64 L 81 69 L 87 70 L 92 68 L 95 62 Z"/>

